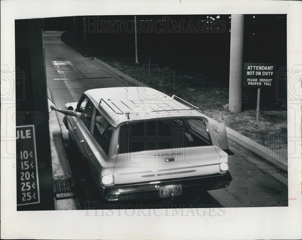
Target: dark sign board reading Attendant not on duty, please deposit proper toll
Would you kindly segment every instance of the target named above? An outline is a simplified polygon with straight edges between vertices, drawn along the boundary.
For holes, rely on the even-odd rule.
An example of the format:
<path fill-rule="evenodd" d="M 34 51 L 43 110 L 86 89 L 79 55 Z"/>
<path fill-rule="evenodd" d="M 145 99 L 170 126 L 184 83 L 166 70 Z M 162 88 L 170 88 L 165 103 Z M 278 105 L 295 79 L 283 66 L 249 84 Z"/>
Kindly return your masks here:
<path fill-rule="evenodd" d="M 244 63 L 243 87 L 245 88 L 271 88 L 275 86 L 275 63 Z"/>

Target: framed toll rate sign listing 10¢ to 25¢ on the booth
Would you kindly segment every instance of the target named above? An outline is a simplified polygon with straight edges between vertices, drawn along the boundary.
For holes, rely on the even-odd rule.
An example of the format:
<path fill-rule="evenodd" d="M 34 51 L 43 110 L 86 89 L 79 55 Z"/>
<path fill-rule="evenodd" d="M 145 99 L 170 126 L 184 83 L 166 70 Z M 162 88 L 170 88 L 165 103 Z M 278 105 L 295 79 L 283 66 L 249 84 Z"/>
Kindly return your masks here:
<path fill-rule="evenodd" d="M 34 125 L 16 126 L 17 206 L 40 203 Z"/>

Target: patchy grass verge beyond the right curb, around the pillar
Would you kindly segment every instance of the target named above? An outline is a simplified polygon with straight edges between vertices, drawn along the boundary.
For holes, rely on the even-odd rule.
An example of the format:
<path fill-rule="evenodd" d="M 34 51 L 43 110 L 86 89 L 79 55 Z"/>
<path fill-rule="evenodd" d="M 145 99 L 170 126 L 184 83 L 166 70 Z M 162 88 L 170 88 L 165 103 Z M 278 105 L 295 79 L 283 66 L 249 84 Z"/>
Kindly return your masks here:
<path fill-rule="evenodd" d="M 80 46 L 66 36 L 63 36 L 63 41 L 83 56 L 97 57 L 126 74 L 133 67 L 141 69 L 143 64 L 149 63 L 149 58 L 151 64 L 158 63 L 161 68 L 169 66 L 167 60 L 159 56 L 139 56 L 140 64 L 134 64 L 134 56 L 95 56 L 93 48 L 87 45 Z M 287 159 L 287 112 L 282 102 L 272 101 L 275 96 L 269 96 L 262 90 L 260 122 L 256 123 L 256 88 L 243 91 L 243 111 L 234 114 L 228 110 L 229 89 L 215 87 L 215 79 L 203 75 L 202 70 L 182 67 L 169 70 L 175 75 L 174 81 L 169 84 L 150 81 L 149 86 L 168 95 L 177 95 L 198 106 L 203 114 L 214 120 L 220 122 L 224 118 L 226 126 Z"/>

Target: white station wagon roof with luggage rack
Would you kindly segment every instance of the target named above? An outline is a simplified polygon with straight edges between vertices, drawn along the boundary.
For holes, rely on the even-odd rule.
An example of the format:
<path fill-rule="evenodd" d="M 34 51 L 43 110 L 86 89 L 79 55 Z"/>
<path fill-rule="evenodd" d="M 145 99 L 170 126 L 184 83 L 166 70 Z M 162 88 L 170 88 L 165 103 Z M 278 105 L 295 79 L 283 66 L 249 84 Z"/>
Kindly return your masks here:
<path fill-rule="evenodd" d="M 149 87 L 97 88 L 84 92 L 112 126 L 122 122 L 193 116 L 192 107 Z"/>

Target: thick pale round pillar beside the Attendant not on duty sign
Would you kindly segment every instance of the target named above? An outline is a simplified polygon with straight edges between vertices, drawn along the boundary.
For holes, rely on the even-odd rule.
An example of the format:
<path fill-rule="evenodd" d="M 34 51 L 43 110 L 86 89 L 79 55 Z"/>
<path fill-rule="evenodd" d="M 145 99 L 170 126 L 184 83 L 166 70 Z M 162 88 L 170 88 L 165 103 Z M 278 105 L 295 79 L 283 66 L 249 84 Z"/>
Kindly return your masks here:
<path fill-rule="evenodd" d="M 231 15 L 229 110 L 241 112 L 244 15 Z"/>

